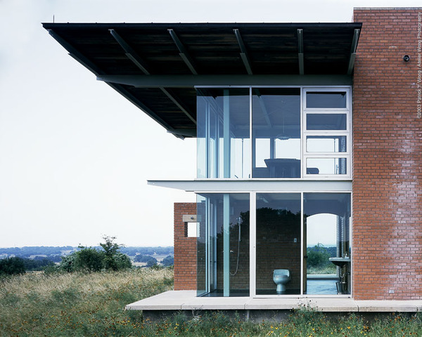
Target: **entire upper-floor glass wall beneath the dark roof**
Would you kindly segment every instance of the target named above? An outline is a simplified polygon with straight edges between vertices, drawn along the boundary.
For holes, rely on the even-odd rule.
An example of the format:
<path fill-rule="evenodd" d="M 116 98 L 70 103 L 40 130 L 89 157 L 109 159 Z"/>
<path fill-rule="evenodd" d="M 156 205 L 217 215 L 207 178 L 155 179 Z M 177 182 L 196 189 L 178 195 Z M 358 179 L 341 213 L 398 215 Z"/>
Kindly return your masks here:
<path fill-rule="evenodd" d="M 198 89 L 198 178 L 350 178 L 349 88 Z"/>

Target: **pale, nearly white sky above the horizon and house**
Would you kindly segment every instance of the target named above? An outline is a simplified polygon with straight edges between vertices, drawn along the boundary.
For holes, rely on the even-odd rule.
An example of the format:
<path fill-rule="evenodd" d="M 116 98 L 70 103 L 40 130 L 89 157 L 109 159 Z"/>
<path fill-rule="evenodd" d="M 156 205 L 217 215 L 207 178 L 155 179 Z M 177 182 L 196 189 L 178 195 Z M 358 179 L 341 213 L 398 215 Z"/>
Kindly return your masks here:
<path fill-rule="evenodd" d="M 351 22 L 418 1 L 0 0 L 0 247 L 172 246 L 196 140 L 179 140 L 73 60 L 41 22 Z"/>

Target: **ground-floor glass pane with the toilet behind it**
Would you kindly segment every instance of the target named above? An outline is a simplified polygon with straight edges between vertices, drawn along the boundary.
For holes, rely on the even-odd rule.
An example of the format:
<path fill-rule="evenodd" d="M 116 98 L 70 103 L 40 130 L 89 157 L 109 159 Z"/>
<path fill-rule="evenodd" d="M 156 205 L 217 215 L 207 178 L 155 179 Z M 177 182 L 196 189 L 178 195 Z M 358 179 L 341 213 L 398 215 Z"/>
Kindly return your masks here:
<path fill-rule="evenodd" d="M 257 194 L 257 294 L 300 294 L 300 194 Z"/>

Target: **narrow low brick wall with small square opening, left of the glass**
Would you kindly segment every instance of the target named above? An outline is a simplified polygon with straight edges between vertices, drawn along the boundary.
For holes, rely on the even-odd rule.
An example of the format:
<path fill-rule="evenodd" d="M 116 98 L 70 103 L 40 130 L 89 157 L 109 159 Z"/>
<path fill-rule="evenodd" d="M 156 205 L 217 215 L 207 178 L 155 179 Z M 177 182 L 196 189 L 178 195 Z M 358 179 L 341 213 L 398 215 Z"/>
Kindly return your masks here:
<path fill-rule="evenodd" d="M 174 290 L 196 290 L 196 237 L 187 237 L 184 215 L 196 214 L 196 203 L 174 203 Z"/>

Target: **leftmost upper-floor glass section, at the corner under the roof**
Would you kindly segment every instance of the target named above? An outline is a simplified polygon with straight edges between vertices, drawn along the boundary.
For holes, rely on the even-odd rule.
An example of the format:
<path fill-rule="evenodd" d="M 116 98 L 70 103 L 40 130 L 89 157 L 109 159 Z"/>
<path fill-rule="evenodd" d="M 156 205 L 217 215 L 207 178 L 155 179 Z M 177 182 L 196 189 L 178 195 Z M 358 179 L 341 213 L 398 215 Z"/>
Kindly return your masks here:
<path fill-rule="evenodd" d="M 248 88 L 200 89 L 198 178 L 250 178 Z"/>

